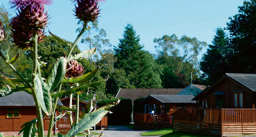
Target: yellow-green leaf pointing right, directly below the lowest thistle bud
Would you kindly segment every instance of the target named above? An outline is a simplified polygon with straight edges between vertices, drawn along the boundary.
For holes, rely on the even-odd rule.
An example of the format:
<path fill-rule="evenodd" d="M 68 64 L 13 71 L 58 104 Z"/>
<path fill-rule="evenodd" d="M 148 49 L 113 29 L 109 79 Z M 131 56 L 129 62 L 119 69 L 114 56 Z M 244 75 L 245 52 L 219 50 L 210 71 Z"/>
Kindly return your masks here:
<path fill-rule="evenodd" d="M 99 68 L 93 70 L 90 73 L 84 74 L 83 76 L 78 77 L 78 78 L 71 77 L 70 79 L 64 79 L 61 81 L 61 83 L 87 83 L 93 79 L 93 77 L 98 72 L 98 70 L 99 70 Z"/>

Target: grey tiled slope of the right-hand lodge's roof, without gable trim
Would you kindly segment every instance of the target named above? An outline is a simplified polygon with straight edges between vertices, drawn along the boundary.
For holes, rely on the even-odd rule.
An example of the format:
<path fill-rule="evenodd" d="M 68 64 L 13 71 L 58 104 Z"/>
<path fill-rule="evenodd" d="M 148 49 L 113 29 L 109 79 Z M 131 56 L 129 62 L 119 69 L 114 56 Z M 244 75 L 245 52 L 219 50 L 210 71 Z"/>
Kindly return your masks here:
<path fill-rule="evenodd" d="M 241 83 L 245 87 L 249 88 L 251 91 L 256 91 L 256 74 L 236 74 L 236 73 L 226 73 L 228 77 Z"/>

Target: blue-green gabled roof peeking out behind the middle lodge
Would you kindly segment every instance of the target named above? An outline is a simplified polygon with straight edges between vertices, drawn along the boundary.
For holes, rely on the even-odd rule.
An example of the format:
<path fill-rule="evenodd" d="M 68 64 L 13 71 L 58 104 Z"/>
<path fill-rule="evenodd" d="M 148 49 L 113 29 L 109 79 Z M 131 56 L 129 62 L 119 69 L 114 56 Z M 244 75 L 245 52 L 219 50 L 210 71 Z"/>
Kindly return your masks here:
<path fill-rule="evenodd" d="M 187 86 L 183 91 L 180 91 L 180 93 L 178 93 L 177 95 L 193 95 L 196 96 L 199 93 L 201 93 L 204 88 L 206 88 L 207 86 L 204 85 L 194 85 L 191 84 L 189 86 Z"/>

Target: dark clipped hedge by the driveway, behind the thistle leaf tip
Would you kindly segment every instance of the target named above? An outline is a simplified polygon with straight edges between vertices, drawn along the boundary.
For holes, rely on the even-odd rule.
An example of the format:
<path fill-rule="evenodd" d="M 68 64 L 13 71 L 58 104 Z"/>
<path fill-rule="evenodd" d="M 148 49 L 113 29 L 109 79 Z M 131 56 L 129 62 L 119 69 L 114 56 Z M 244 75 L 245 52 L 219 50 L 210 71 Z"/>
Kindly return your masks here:
<path fill-rule="evenodd" d="M 97 106 L 101 107 L 105 104 L 118 100 L 117 98 L 101 100 L 97 102 Z M 131 122 L 132 103 L 130 99 L 122 99 L 120 103 L 111 108 L 112 114 L 107 114 L 108 125 L 128 125 Z"/>

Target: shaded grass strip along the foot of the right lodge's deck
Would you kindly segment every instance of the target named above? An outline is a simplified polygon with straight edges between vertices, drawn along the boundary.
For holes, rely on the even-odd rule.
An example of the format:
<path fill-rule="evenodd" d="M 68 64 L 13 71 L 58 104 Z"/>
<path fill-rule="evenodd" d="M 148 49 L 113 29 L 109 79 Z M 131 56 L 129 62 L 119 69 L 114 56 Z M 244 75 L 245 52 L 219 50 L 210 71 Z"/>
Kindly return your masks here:
<path fill-rule="evenodd" d="M 216 137 L 216 136 L 174 131 L 174 132 L 171 132 L 169 134 L 165 134 L 161 137 Z"/>

